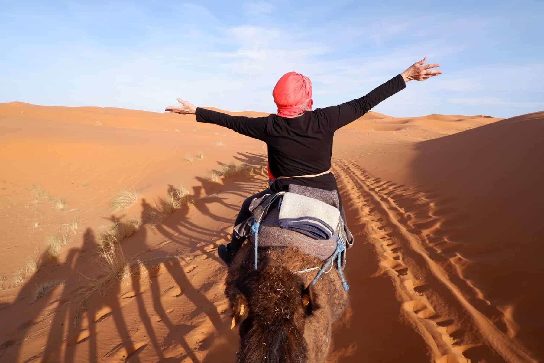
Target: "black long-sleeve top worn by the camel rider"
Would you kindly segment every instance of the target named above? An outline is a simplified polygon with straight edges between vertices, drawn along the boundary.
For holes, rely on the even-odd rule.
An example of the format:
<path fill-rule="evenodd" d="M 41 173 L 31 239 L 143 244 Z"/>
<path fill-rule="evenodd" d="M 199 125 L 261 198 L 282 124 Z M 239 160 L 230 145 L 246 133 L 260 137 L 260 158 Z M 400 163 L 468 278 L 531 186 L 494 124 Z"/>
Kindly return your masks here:
<path fill-rule="evenodd" d="M 231 116 L 198 107 L 196 121 L 228 127 L 264 141 L 268 146 L 270 171 L 275 177 L 319 174 L 331 167 L 335 131 L 360 118 L 405 87 L 403 77 L 397 75 L 360 99 L 338 106 L 317 108 L 295 118 L 276 114 L 257 118 Z M 270 189 L 277 193 L 287 190 L 289 184 L 338 190 L 332 173 L 316 177 L 276 179 Z"/>

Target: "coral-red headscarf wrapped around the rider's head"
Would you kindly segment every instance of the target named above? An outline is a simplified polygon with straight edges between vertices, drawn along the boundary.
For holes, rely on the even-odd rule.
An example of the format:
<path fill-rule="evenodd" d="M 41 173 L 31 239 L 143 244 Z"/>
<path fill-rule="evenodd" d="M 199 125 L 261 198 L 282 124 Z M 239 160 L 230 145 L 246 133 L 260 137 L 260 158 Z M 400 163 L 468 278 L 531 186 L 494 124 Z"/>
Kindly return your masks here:
<path fill-rule="evenodd" d="M 272 96 L 278 116 L 293 117 L 312 110 L 312 82 L 300 73 L 285 73 L 277 81 Z"/>

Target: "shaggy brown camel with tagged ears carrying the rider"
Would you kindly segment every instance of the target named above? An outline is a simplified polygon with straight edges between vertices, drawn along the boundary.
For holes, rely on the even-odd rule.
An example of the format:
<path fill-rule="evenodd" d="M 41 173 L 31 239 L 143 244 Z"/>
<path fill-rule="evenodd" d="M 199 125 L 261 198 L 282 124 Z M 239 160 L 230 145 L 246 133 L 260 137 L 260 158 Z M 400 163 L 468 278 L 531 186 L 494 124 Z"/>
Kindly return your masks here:
<path fill-rule="evenodd" d="M 331 325 L 342 317 L 348 293 L 336 267 L 309 286 L 323 262 L 292 247 L 254 248 L 245 242 L 225 282 L 233 323 L 239 326 L 238 363 L 323 363 Z"/>

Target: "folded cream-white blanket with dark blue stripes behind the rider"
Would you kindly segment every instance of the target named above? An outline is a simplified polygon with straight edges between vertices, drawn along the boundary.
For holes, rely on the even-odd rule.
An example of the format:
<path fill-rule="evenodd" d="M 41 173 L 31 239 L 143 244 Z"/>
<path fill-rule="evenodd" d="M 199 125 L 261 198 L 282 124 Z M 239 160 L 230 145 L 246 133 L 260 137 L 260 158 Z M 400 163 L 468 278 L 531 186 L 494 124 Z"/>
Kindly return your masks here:
<path fill-rule="evenodd" d="M 340 211 L 309 196 L 285 193 L 280 201 L 278 222 L 284 229 L 316 239 L 330 239 L 335 233 Z"/>

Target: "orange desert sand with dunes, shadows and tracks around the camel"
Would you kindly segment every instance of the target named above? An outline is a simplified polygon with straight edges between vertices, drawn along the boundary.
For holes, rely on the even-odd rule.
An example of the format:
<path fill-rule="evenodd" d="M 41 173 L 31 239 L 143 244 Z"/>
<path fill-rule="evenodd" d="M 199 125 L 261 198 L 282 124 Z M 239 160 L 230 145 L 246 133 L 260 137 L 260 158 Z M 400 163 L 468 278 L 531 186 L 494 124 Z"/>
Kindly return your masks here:
<path fill-rule="evenodd" d="M 544 112 L 371 112 L 337 133 L 332 169 L 356 244 L 330 362 L 544 358 L 543 129 Z M 216 249 L 266 184 L 265 145 L 191 116 L 20 102 L 0 104 L 0 130 L 0 361 L 234 361 Z M 229 163 L 252 170 L 215 180 Z M 190 203 L 158 220 L 170 186 Z M 139 196 L 112 212 L 121 189 Z M 86 294 L 107 276 L 104 231 L 132 219 L 129 267 Z M 60 253 L 25 272 L 69 227 Z"/>

